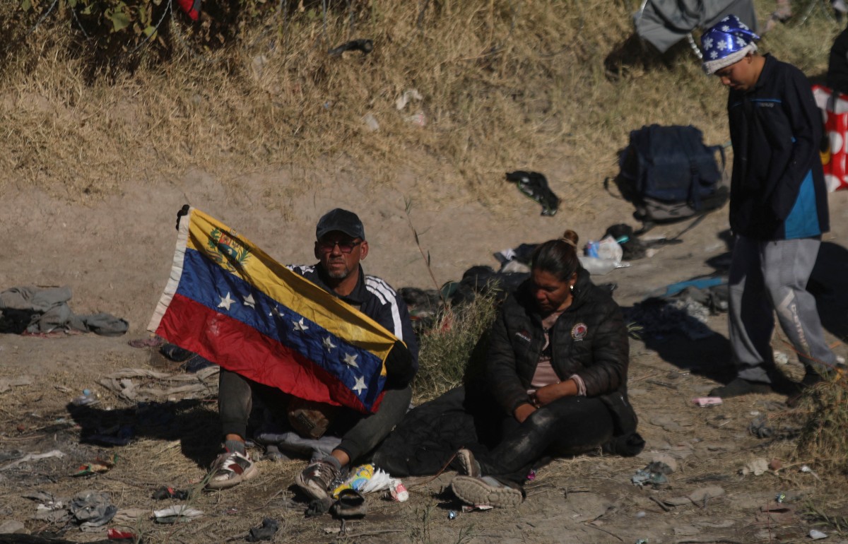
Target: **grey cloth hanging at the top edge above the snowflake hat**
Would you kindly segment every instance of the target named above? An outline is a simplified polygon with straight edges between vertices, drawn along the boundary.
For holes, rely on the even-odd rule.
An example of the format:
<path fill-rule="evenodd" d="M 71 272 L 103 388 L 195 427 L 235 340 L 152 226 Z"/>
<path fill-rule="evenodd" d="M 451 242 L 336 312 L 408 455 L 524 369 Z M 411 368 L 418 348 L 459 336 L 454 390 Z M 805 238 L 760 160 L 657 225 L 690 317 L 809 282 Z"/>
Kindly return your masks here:
<path fill-rule="evenodd" d="M 706 30 L 729 14 L 757 31 L 753 0 L 648 0 L 633 22 L 639 37 L 666 53 L 689 32 Z"/>

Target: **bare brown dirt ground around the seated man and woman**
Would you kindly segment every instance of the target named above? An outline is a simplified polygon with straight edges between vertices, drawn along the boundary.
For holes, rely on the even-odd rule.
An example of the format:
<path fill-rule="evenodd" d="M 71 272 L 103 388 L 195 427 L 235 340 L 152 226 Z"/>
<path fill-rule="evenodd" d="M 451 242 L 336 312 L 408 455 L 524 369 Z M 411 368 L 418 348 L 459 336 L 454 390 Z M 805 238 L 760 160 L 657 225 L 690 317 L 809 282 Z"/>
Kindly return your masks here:
<path fill-rule="evenodd" d="M 554 180 L 563 168 L 553 162 L 543 166 Z M 131 328 L 117 338 L 0 335 L 0 384 L 3 379 L 14 384 L 17 378 L 31 377 L 31 383 L 5 391 L 0 386 L 0 533 L 4 523 L 14 521 L 31 533 L 62 528 L 33 519 L 43 500 L 24 495 L 43 491 L 72 497 L 93 490 L 108 491 L 119 514 L 142 508 L 136 520 L 122 523 L 146 542 L 243 541 L 266 517 L 280 522 L 277 542 L 801 542 L 811 540 L 812 529 L 827 533 L 827 542 L 848 541 L 848 534 L 840 534 L 835 525 L 841 519 L 845 527 L 848 514 L 844 475 L 824 472 L 816 459 L 793 460 L 791 441 L 763 440 L 748 432 L 757 416 L 784 413 L 783 397 L 743 397 L 710 408 L 691 402 L 730 375 L 725 314 L 711 316 L 708 326 L 715 334 L 698 341 L 673 334 L 632 341 L 630 395 L 647 441 L 639 457 L 556 460 L 538 471 L 527 486 L 527 500 L 514 510 L 459 511 L 444 492 L 452 476 L 448 472 L 435 480 L 406 480 L 409 502 L 369 496 L 369 512 L 359 521 L 342 525 L 329 515 L 304 519 L 304 503 L 290 488 L 303 463 L 260 461 L 259 478 L 189 500 L 192 508 L 204 512 L 198 519 L 154 524 L 153 509 L 181 501 L 155 501 L 153 491 L 160 486 L 191 488 L 215 457 L 215 402 L 135 406 L 98 380 L 119 369 L 176 373 L 174 364 L 127 341 L 148 336 L 145 329 L 170 270 L 174 219 L 182 203 L 192 203 L 240 230 L 284 263 L 313 260 L 315 221 L 326 210 L 337 205 L 354 209 L 371 243 L 365 269 L 396 288 L 432 287 L 410 221 L 440 283 L 460 279 L 474 264 L 495 266 L 496 251 L 544 241 L 566 228 L 577 230 L 585 241 L 615 223 L 636 226 L 630 219 L 632 208 L 612 197 L 593 203 L 590 213 L 577 212 L 569 206 L 576 197 L 564 185 L 555 186 L 563 204 L 550 218 L 541 217 L 538 204 L 506 184 L 504 191 L 514 192 L 514 207 L 492 210 L 472 202 L 458 188 L 417 186 L 411 176 L 399 180 L 399 190 L 369 186 L 341 167 L 315 177 L 323 181 L 286 203 L 288 219 L 253 205 L 250 179 L 243 180 L 238 191 L 228 190 L 213 173 L 200 170 L 181 180 L 139 183 L 120 197 L 84 205 L 60 203 L 29 190 L 4 194 L 0 216 L 7 236 L 0 290 L 70 286 L 75 313 L 108 312 L 128 319 Z M 271 172 L 265 178 L 285 184 L 287 175 Z M 410 196 L 413 206 L 407 215 L 404 197 Z M 831 195 L 833 232 L 824 238 L 815 284 L 828 338 L 834 342 L 845 336 L 848 308 L 840 292 L 840 280 L 848 272 L 846 204 L 848 194 Z M 674 236 L 687 225 L 656 227 L 650 235 Z M 598 281 L 616 282 L 616 300 L 632 306 L 663 286 L 720 268 L 727 262 L 722 237 L 727 229 L 727 210 L 722 209 L 684 233 L 683 243 L 662 247 L 651 258 L 633 261 L 630 268 L 614 270 Z M 774 347 L 789 353 L 779 336 Z M 835 349 L 848 355 L 841 343 Z M 785 369 L 797 378 L 801 369 L 793 358 L 789 361 Z M 85 388 L 100 393 L 100 402 L 87 408 L 71 405 Z M 120 425 L 134 425 L 134 439 L 126 446 L 103 447 L 86 438 Z M 20 453 L 57 449 L 64 457 L 20 462 Z M 634 486 L 631 476 L 656 455 L 676 461 L 668 484 L 657 489 Z M 98 458 L 113 461 L 114 467 L 102 474 L 75 475 Z M 756 458 L 780 459 L 783 468 L 742 475 L 740 470 Z M 813 472 L 802 472 L 803 464 Z M 786 500 L 778 503 L 775 497 L 781 493 Z M 451 511 L 458 511 L 455 519 Z M 826 513 L 834 523 L 814 525 L 822 518 L 815 512 Z M 96 541 L 105 533 L 74 527 L 63 537 Z"/>

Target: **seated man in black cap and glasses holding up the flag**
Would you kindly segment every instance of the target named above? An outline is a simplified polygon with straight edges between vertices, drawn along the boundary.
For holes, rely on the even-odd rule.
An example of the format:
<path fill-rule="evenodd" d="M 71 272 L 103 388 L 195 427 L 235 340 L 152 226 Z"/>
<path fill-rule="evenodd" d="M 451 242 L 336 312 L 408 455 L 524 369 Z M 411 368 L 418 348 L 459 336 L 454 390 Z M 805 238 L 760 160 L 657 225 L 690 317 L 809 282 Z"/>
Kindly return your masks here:
<path fill-rule="evenodd" d="M 353 212 L 333 209 L 318 221 L 315 240 L 318 264 L 289 268 L 357 308 L 399 339 L 386 359 L 385 395 L 377 412 L 360 414 L 350 408 L 336 409 L 327 432 L 341 437 L 341 443 L 295 479 L 309 497 L 326 500 L 328 487 L 340 471 L 377 447 L 406 414 L 412 398 L 410 381 L 418 369 L 418 345 L 403 299 L 385 281 L 365 275 L 362 270 L 360 261 L 368 256 L 368 242 L 360 218 Z M 207 483 L 210 489 L 236 486 L 257 474 L 244 447 L 254 395 L 275 411 L 284 411 L 293 399 L 276 388 L 220 370 L 218 410 L 225 451 L 213 464 Z"/>

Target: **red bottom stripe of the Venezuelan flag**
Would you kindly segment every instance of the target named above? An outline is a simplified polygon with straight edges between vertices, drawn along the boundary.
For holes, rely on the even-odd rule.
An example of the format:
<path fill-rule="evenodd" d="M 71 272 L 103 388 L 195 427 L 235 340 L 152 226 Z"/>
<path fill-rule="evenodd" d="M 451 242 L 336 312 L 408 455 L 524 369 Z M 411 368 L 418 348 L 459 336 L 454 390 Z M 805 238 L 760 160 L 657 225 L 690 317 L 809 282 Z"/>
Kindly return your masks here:
<path fill-rule="evenodd" d="M 342 382 L 308 358 L 237 319 L 176 294 L 156 334 L 266 386 L 295 397 L 368 412 Z M 371 407 L 376 411 L 382 400 Z"/>

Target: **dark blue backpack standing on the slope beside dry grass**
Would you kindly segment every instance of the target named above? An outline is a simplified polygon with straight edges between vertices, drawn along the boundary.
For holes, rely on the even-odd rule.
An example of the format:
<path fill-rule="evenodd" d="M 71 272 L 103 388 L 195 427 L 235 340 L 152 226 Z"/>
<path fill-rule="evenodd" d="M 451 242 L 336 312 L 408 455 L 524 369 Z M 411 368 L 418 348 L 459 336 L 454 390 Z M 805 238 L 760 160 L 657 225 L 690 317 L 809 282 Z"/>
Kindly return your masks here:
<path fill-rule="evenodd" d="M 716 152 L 721 155 L 719 169 Z M 724 149 L 707 147 L 694 126 L 643 126 L 630 133 L 616 184 L 636 219 L 669 222 L 721 207 L 728 200 Z"/>

